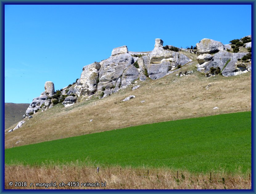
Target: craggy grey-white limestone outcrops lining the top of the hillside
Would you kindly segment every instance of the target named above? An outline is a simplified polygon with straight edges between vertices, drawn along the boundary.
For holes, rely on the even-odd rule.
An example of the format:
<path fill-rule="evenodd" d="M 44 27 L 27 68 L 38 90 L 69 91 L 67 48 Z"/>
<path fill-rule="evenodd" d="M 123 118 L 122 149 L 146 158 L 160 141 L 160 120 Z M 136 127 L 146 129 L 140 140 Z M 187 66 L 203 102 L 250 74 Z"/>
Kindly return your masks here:
<path fill-rule="evenodd" d="M 193 51 L 198 56 L 198 71 L 209 74 L 212 69 L 219 69 L 222 75 L 232 76 L 251 70 L 251 60 L 241 61 L 248 52 L 231 53 L 229 51 L 232 48 L 229 44 L 223 45 L 207 38 L 202 39 L 196 46 L 197 50 Z M 245 48 L 250 46 L 251 42 L 244 45 Z M 64 87 L 61 91 L 55 92 L 54 84 L 47 81 L 45 91 L 33 99 L 23 118 L 52 107 L 56 103 L 56 98 L 57 103 L 62 102 L 64 106 L 76 103 L 77 96 L 96 95 L 104 98 L 126 88 L 137 79 L 159 79 L 175 72 L 178 65 L 183 66 L 192 61 L 186 55 L 168 48 L 170 46 L 163 47 L 163 40 L 159 38 L 155 39 L 154 49 L 148 52 L 129 52 L 127 46 L 114 48 L 108 59 L 83 67 L 80 79 L 73 83 L 72 87 Z"/>

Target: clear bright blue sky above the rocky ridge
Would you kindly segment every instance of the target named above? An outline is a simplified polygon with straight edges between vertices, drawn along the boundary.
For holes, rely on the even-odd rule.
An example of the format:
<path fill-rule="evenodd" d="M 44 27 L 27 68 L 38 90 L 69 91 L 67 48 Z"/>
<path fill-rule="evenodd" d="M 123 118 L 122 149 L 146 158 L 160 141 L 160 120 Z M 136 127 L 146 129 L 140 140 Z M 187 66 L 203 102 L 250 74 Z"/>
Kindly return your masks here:
<path fill-rule="evenodd" d="M 251 5 L 5 5 L 5 102 L 31 103 L 52 81 L 55 90 L 80 78 L 85 65 L 113 48 L 151 51 L 228 44 L 251 34 Z"/>

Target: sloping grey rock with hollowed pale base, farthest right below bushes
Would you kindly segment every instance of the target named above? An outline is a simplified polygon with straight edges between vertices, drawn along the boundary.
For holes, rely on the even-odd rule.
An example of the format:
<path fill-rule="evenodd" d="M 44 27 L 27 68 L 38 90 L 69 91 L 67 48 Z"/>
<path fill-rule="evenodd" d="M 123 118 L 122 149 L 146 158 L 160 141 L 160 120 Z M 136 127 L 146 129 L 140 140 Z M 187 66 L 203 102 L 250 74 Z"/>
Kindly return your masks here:
<path fill-rule="evenodd" d="M 247 53 L 232 53 L 231 60 L 222 71 L 224 76 L 240 75 L 249 71 L 248 67 L 243 62 L 238 62 L 237 59 L 241 59 Z"/>

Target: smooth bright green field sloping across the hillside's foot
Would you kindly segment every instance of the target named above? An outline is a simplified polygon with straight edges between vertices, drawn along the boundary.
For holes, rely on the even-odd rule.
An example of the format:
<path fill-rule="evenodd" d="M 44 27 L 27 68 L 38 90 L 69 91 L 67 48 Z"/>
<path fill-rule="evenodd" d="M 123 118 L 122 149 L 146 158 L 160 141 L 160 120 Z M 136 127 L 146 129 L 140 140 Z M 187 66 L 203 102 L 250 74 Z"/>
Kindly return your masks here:
<path fill-rule="evenodd" d="M 88 158 L 104 166 L 246 173 L 251 170 L 251 112 L 146 124 L 5 150 L 5 164 L 65 164 Z"/>

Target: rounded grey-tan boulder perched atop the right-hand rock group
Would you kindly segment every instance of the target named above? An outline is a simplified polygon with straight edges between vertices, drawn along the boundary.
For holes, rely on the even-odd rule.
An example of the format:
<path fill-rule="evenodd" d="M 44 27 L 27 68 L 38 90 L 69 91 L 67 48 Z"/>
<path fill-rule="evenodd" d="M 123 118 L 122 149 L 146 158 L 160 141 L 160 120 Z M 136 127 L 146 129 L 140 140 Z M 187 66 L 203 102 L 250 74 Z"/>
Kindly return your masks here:
<path fill-rule="evenodd" d="M 202 55 L 202 54 L 211 54 L 216 53 L 219 51 L 224 51 L 224 45 L 221 42 L 204 38 L 199 43 L 196 43 L 197 51 L 196 54 Z"/>

